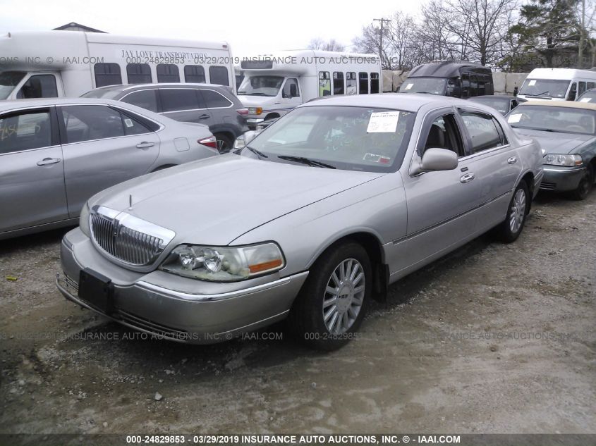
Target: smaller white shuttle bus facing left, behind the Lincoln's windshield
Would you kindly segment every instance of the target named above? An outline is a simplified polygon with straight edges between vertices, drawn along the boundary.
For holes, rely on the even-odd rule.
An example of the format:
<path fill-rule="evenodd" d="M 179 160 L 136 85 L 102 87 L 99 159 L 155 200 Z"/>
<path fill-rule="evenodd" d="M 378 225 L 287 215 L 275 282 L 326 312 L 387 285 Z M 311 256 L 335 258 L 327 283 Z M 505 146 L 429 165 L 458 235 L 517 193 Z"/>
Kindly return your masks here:
<path fill-rule="evenodd" d="M 318 97 L 383 91 L 381 62 L 375 54 L 281 51 L 245 57 L 241 70 L 238 98 L 248 108 L 250 128 Z"/>

